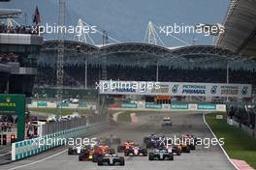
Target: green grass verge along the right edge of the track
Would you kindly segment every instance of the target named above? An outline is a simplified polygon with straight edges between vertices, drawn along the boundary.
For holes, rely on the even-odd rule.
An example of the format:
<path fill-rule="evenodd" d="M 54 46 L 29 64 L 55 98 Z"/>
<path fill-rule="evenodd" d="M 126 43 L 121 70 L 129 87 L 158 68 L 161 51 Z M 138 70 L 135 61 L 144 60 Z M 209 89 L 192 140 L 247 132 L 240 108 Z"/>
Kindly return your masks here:
<path fill-rule="evenodd" d="M 229 126 L 227 120 L 217 120 L 216 113 L 206 115 L 206 120 L 217 138 L 224 137 L 224 149 L 231 158 L 245 160 L 256 169 L 256 139 L 240 128 Z"/>

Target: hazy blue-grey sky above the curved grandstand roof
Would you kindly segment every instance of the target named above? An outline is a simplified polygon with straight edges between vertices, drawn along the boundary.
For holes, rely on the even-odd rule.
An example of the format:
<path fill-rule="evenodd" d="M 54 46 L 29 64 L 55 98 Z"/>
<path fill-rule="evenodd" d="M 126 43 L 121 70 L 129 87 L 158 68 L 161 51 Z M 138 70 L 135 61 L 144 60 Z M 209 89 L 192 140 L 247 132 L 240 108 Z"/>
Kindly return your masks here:
<path fill-rule="evenodd" d="M 67 25 L 76 26 L 79 18 L 106 30 L 120 42 L 143 42 L 146 25 L 151 20 L 157 26 L 198 23 L 222 23 L 229 8 L 230 0 L 67 0 Z M 1 8 L 21 9 L 27 15 L 27 23 L 31 24 L 32 15 L 38 5 L 43 24 L 57 23 L 57 0 L 12 0 L 0 3 Z M 21 24 L 25 18 L 17 19 Z M 159 33 L 159 30 L 156 30 Z M 212 37 L 202 34 L 175 34 L 185 42 L 210 44 Z M 45 35 L 46 39 L 54 39 L 54 35 Z M 72 39 L 74 36 L 67 36 Z M 172 37 L 160 34 L 167 46 L 184 45 Z M 96 43 L 102 37 L 94 35 Z"/>

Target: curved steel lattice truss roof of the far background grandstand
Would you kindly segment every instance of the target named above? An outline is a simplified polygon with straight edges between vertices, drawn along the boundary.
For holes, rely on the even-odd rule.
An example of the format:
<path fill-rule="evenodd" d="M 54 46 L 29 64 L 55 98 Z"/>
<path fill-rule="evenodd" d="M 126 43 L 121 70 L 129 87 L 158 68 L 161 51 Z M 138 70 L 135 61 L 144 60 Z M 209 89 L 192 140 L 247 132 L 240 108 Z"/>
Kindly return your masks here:
<path fill-rule="evenodd" d="M 42 51 L 57 51 L 59 41 L 46 41 L 43 44 Z M 168 62 L 171 60 L 189 60 L 190 62 L 207 62 L 207 61 L 248 61 L 253 58 L 241 56 L 228 49 L 213 45 L 191 45 L 176 48 L 167 48 L 151 43 L 144 42 L 118 42 L 106 44 L 102 47 L 91 45 L 83 42 L 65 41 L 66 55 L 80 56 L 86 55 L 93 58 L 94 61 L 101 62 L 103 57 L 118 60 L 128 56 L 129 61 L 151 60 L 155 62 Z M 80 50 L 78 50 L 78 47 Z"/>

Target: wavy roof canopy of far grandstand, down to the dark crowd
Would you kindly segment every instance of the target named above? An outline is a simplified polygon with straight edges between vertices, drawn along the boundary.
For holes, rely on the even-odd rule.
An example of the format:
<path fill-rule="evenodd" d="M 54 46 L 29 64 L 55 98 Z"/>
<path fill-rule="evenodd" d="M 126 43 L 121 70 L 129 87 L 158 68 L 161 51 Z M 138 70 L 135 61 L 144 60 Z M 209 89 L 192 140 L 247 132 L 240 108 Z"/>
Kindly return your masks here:
<path fill-rule="evenodd" d="M 59 41 L 43 44 L 39 63 L 53 65 L 56 62 Z M 144 42 L 118 42 L 92 45 L 83 42 L 64 41 L 64 65 L 84 65 L 87 57 L 92 65 L 167 66 L 176 68 L 230 68 L 254 70 L 256 59 L 234 53 L 214 45 L 189 45 L 164 47 Z M 107 60 L 105 60 L 107 59 Z"/>

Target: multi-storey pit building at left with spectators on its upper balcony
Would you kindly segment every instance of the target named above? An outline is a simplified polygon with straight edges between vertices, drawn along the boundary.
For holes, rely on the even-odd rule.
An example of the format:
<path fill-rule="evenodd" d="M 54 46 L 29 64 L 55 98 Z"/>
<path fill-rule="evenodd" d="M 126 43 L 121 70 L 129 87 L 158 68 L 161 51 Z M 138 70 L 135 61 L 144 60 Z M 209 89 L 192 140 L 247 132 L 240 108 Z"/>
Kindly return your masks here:
<path fill-rule="evenodd" d="M 13 24 L 13 18 L 21 14 L 20 10 L 0 9 L 0 93 L 30 97 L 43 38 L 33 34 L 31 26 Z"/>

